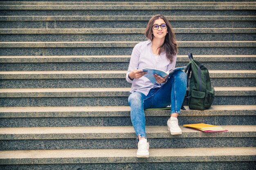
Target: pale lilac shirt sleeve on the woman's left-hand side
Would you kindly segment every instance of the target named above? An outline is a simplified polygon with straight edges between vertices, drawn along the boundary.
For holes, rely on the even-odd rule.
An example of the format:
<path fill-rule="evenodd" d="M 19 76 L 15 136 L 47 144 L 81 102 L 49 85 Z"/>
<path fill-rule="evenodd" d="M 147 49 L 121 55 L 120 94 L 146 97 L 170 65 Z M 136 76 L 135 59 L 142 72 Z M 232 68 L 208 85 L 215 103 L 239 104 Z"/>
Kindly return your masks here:
<path fill-rule="evenodd" d="M 130 74 L 130 72 L 132 72 L 134 69 L 138 69 L 138 65 L 139 65 L 139 55 L 140 55 L 140 51 L 138 48 L 138 44 L 135 45 L 135 47 L 132 50 L 132 55 L 131 55 L 131 59 L 130 59 L 130 64 L 128 67 L 128 71 L 126 73 L 126 81 L 129 83 L 132 83 L 133 81 L 128 77 L 128 75 Z"/>

